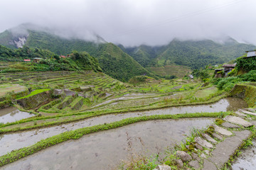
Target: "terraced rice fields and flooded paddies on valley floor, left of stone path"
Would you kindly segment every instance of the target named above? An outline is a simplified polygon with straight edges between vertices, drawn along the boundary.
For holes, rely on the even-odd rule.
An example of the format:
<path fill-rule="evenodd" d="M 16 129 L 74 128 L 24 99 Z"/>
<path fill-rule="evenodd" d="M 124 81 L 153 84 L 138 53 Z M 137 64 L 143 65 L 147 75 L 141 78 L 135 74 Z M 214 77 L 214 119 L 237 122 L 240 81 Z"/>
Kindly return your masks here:
<path fill-rule="evenodd" d="M 23 88 L 1 99 L 7 107 L 0 110 L 0 161 L 1 166 L 7 164 L 3 169 L 41 169 L 46 167 L 41 161 L 55 154 L 58 157 L 50 159 L 61 165 L 49 163 L 49 169 L 80 169 L 85 164 L 91 169 L 119 169 L 131 159 L 138 162 L 134 155 L 146 158 L 156 153 L 161 153 L 157 162 L 163 162 L 170 157 L 166 149 L 186 140 L 193 128 L 210 127 L 222 116 L 248 107 L 200 79 L 146 77 L 130 84 L 93 70 L 10 72 L 1 77 L 2 89 L 16 84 Z M 16 111 L 8 107 L 12 103 L 21 118 L 9 118 Z"/>

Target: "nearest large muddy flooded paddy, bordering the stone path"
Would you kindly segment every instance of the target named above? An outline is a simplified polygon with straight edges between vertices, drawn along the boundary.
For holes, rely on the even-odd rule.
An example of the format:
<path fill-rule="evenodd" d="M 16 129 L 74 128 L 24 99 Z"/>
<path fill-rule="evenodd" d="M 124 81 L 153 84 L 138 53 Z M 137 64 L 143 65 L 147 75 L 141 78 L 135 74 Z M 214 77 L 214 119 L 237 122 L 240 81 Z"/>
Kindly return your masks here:
<path fill-rule="evenodd" d="M 131 153 L 164 152 L 213 119 L 154 120 L 85 135 L 14 162 L 3 169 L 110 169 Z M 136 151 L 136 152 L 135 152 Z"/>

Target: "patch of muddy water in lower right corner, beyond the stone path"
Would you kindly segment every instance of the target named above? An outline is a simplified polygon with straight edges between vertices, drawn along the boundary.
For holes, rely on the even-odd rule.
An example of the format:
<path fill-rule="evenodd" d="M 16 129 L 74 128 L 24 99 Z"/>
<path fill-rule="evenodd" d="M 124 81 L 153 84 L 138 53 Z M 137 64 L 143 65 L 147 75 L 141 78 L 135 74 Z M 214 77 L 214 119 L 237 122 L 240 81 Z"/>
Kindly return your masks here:
<path fill-rule="evenodd" d="M 256 169 L 256 139 L 252 142 L 252 146 L 242 151 L 242 154 L 232 164 L 233 170 L 254 170 Z"/>

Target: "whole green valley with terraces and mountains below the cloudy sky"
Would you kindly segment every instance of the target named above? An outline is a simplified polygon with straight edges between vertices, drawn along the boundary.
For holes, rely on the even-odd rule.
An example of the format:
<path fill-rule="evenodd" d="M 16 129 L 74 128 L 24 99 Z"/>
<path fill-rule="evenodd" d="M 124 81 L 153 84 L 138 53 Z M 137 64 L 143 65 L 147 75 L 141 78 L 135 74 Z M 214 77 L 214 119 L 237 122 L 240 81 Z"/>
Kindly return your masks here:
<path fill-rule="evenodd" d="M 225 169 L 256 137 L 254 45 L 22 29 L 0 34 L 1 169 Z"/>

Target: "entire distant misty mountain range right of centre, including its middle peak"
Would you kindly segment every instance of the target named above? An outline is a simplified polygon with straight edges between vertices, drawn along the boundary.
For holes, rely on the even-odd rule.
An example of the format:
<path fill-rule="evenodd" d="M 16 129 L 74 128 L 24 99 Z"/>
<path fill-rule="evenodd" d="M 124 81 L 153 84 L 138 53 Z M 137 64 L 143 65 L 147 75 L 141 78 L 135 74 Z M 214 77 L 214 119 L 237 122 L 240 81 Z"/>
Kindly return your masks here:
<path fill-rule="evenodd" d="M 208 64 L 222 64 L 254 50 L 255 45 L 239 43 L 233 38 L 224 41 L 172 40 L 168 45 L 127 47 L 125 51 L 144 67 L 178 64 L 198 69 Z M 152 62 L 152 60 L 154 62 Z M 149 62 L 151 61 L 151 62 Z"/>

